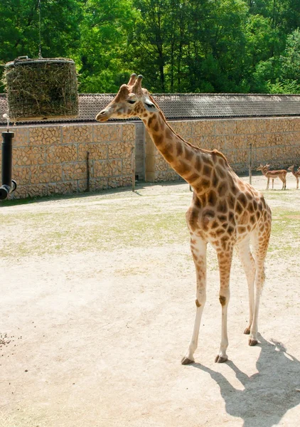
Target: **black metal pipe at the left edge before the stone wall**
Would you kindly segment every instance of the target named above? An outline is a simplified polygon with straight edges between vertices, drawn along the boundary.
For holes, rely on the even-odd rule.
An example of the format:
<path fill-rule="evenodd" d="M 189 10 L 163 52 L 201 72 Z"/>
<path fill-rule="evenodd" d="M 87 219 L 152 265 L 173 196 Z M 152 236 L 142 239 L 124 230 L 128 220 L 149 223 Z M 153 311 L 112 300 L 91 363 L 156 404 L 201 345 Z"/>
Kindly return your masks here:
<path fill-rule="evenodd" d="M 0 200 L 6 197 L 16 189 L 16 181 L 11 179 L 13 168 L 13 138 L 14 132 L 2 132 L 2 186 L 0 187 Z"/>

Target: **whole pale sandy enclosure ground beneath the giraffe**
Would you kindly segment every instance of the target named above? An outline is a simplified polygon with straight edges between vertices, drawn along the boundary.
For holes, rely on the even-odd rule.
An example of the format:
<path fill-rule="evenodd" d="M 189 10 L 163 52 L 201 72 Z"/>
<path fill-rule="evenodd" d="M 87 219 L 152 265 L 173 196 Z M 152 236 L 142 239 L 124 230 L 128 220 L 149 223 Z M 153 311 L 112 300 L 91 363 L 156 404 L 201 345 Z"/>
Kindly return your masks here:
<path fill-rule="evenodd" d="M 188 184 L 3 203 L 0 426 L 299 426 L 300 190 L 290 174 L 280 188 L 264 191 L 273 229 L 260 343 L 242 334 L 247 283 L 235 256 L 229 361 L 214 363 L 221 310 L 210 248 L 189 366 L 180 363 L 195 315 Z"/>

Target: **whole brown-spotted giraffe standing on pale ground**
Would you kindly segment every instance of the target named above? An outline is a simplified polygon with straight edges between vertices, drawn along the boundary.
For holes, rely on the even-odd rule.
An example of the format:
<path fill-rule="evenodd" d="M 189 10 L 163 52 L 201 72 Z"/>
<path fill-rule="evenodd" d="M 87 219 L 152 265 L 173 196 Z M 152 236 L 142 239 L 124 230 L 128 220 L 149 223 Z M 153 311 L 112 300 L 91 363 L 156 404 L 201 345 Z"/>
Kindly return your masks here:
<path fill-rule="evenodd" d="M 182 364 L 195 362 L 201 316 L 206 300 L 206 249 L 210 243 L 218 255 L 220 270 L 219 300 L 222 310 L 220 350 L 215 362 L 227 360 L 227 307 L 230 300 L 230 268 L 233 248 L 237 248 L 245 270 L 249 294 L 250 319 L 244 331 L 249 345 L 257 344 L 259 298 L 264 283 L 264 258 L 271 232 L 271 210 L 264 196 L 233 172 L 225 156 L 186 142 L 171 128 L 164 113 L 141 87 L 143 76 L 132 74 L 129 83 L 119 88 L 114 100 L 97 114 L 96 120 L 138 116 L 166 162 L 193 187 L 186 222 L 191 234 L 195 263 L 195 323 Z M 252 252 L 250 251 L 252 243 Z"/>

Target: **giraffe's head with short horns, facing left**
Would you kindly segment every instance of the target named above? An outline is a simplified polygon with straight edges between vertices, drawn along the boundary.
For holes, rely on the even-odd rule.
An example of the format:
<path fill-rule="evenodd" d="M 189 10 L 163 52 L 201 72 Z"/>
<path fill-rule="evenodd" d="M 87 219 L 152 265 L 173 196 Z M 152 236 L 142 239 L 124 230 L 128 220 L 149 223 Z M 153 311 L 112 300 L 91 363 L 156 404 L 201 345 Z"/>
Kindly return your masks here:
<path fill-rule="evenodd" d="M 97 114 L 96 120 L 106 122 L 110 117 L 146 117 L 151 112 L 158 112 L 159 107 L 148 90 L 141 88 L 142 78 L 142 75 L 136 77 L 136 74 L 132 74 L 127 85 L 122 85 L 112 102 Z"/>

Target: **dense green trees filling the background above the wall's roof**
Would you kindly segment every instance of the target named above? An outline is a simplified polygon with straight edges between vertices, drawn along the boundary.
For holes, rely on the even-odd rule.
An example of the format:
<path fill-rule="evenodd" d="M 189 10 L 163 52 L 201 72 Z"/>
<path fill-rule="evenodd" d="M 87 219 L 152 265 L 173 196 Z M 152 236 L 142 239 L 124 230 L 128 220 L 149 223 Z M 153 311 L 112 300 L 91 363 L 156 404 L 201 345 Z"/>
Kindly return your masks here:
<path fill-rule="evenodd" d="M 300 0 L 41 0 L 44 58 L 80 92 L 300 93 Z M 38 56 L 38 0 L 1 0 L 0 63 Z M 0 88 L 1 90 L 1 88 Z M 2 88 L 3 90 L 3 88 Z"/>

